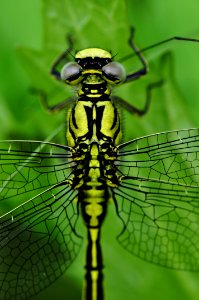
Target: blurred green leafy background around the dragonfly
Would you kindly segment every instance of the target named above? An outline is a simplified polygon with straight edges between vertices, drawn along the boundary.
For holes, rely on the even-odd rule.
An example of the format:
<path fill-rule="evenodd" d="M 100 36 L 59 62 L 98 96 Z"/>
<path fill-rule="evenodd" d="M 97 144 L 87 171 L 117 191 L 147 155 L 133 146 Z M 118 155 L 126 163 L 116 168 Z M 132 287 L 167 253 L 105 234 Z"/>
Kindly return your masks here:
<path fill-rule="evenodd" d="M 65 113 L 48 114 L 30 87 L 43 89 L 51 104 L 71 94 L 49 76 L 53 60 L 66 48 L 68 33 L 74 36 L 76 50 L 104 47 L 117 54 L 116 59 L 131 52 L 127 44 L 130 25 L 136 28 L 135 42 L 140 48 L 173 35 L 199 38 L 196 0 L 1 0 L 0 8 L 1 139 L 44 140 L 63 122 Z M 115 93 L 142 107 L 146 85 L 158 79 L 164 79 L 164 85 L 154 91 L 147 116 L 139 119 L 122 112 L 124 139 L 199 126 L 198 53 L 199 44 L 186 42 L 145 53 L 149 76 Z M 125 66 L 136 71 L 140 64 L 134 58 Z M 102 234 L 107 300 L 199 298 L 198 273 L 164 269 L 126 253 L 115 240 L 119 230 L 110 205 Z M 84 250 L 55 284 L 33 299 L 80 299 Z"/>

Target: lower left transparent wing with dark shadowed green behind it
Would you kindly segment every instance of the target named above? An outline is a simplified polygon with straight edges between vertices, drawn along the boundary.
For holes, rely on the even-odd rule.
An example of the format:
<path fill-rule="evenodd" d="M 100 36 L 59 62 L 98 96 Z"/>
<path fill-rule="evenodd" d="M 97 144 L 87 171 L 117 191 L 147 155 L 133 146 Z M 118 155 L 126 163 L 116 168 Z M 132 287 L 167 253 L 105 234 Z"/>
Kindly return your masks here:
<path fill-rule="evenodd" d="M 28 299 L 73 262 L 81 245 L 76 197 L 58 184 L 0 218 L 0 299 Z"/>

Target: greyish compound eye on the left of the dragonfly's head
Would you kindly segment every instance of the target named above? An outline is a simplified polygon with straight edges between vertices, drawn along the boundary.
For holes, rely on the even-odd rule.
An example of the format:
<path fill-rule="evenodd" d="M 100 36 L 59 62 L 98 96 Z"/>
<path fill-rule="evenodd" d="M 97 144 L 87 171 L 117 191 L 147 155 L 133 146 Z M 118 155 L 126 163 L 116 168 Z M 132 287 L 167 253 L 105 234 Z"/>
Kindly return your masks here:
<path fill-rule="evenodd" d="M 70 62 L 63 66 L 61 70 L 61 79 L 63 81 L 76 80 L 81 75 L 82 67 L 76 62 Z"/>

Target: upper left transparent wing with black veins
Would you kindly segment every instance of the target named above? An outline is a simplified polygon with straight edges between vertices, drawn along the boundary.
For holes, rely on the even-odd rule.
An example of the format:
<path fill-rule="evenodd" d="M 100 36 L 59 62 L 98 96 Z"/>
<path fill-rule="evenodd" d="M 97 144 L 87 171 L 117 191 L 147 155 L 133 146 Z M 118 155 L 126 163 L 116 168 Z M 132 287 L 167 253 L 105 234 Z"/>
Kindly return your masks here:
<path fill-rule="evenodd" d="M 0 200 L 8 199 L 9 209 L 66 179 L 75 163 L 71 148 L 37 141 L 0 142 Z M 27 196 L 26 196 L 27 197 Z M 27 200 L 27 198 L 26 198 Z"/>

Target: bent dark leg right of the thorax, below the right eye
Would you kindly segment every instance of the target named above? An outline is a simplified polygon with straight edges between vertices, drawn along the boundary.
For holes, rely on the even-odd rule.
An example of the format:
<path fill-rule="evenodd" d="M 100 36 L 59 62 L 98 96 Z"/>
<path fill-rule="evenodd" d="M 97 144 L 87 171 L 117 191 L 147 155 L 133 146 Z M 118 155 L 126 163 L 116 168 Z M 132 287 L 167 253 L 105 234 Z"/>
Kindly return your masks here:
<path fill-rule="evenodd" d="M 133 106 L 132 104 L 126 102 L 125 100 L 123 100 L 120 97 L 114 96 L 113 100 L 115 101 L 115 103 L 118 103 L 120 106 L 122 106 L 124 109 L 128 110 L 130 113 L 132 114 L 136 114 L 138 116 L 143 116 L 145 115 L 150 107 L 151 104 L 151 92 L 153 89 L 160 87 L 163 84 L 163 80 L 151 83 L 147 86 L 146 88 L 146 102 L 145 102 L 145 106 L 143 109 L 138 109 L 137 107 Z"/>

